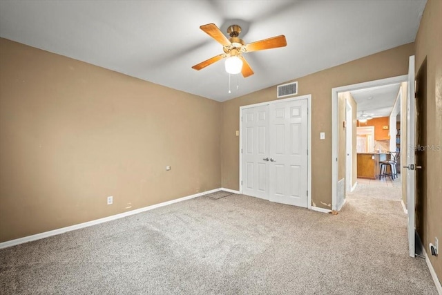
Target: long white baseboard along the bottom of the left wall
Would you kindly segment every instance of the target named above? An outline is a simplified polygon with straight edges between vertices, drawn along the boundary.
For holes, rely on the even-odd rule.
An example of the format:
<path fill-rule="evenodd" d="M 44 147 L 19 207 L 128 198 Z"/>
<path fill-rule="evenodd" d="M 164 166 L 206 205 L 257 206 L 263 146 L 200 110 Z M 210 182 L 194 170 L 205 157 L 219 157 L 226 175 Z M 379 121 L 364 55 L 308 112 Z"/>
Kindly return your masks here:
<path fill-rule="evenodd" d="M 169 204 L 173 204 L 173 203 L 176 203 L 176 202 L 182 202 L 182 201 L 185 201 L 185 200 L 189 200 L 189 199 L 193 199 L 193 198 L 198 198 L 198 197 L 204 196 L 204 195 L 206 195 L 208 193 L 215 193 L 215 192 L 220 191 L 220 190 L 221 189 L 212 189 L 211 191 L 203 191 L 202 193 L 195 193 L 194 195 L 191 195 L 191 196 L 186 196 L 186 197 L 183 197 L 183 198 L 179 198 L 179 199 L 175 199 L 175 200 L 170 200 L 170 201 L 167 201 L 167 202 L 162 202 L 160 204 L 154 204 L 154 205 L 151 205 L 151 206 L 148 206 L 148 207 L 143 207 L 143 208 L 140 208 L 140 209 L 135 209 L 135 210 L 127 211 L 127 212 L 124 212 L 124 213 L 119 213 L 119 214 L 116 214 L 116 215 L 113 215 L 113 216 L 108 216 L 108 217 L 99 218 L 99 219 L 96 219 L 96 220 L 91 220 L 91 221 L 88 221 L 88 222 L 79 223 L 78 225 L 71 225 L 70 227 L 62 227 L 61 229 L 54 229 L 52 231 L 45 231 L 44 233 L 35 234 L 35 235 L 32 235 L 32 236 L 26 236 L 26 237 L 23 237 L 23 238 L 17 238 L 15 240 L 7 240 L 6 242 L 0 242 L 0 249 L 7 248 L 7 247 L 12 247 L 12 246 L 19 245 L 19 244 L 23 244 L 25 242 L 31 242 L 32 240 L 39 240 L 41 238 L 48 238 L 50 236 L 55 236 L 55 235 L 58 235 L 58 234 L 63 234 L 63 233 L 66 233 L 67 231 L 75 231 L 75 229 L 82 229 L 84 227 L 90 227 L 92 225 L 98 225 L 99 223 L 108 222 L 108 221 L 116 220 L 116 219 L 119 219 L 119 218 L 124 218 L 126 216 L 131 216 L 131 215 L 134 215 L 134 214 L 137 214 L 137 213 L 142 213 L 144 211 L 149 211 L 149 210 L 152 210 L 152 209 L 155 209 L 155 208 L 159 208 L 159 207 L 163 207 L 163 206 L 166 206 L 166 205 L 169 205 Z"/>

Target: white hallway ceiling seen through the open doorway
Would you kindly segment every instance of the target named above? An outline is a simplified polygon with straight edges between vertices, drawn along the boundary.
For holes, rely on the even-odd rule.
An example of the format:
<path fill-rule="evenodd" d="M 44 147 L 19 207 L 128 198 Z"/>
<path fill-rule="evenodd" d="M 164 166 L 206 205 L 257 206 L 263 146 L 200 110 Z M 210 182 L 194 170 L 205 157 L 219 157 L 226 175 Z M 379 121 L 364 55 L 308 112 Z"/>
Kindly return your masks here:
<path fill-rule="evenodd" d="M 370 117 L 389 117 L 401 84 L 390 84 L 350 91 L 358 105 L 358 115 L 362 112 Z"/>

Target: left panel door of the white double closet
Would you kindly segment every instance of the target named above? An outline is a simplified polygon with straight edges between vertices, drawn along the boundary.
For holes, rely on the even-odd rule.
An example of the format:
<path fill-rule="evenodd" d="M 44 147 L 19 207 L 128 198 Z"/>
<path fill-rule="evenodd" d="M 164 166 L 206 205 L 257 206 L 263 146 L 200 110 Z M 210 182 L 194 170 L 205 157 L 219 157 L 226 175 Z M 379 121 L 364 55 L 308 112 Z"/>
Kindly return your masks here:
<path fill-rule="evenodd" d="M 242 193 L 269 200 L 268 159 L 269 106 L 246 108 L 242 110 Z"/>

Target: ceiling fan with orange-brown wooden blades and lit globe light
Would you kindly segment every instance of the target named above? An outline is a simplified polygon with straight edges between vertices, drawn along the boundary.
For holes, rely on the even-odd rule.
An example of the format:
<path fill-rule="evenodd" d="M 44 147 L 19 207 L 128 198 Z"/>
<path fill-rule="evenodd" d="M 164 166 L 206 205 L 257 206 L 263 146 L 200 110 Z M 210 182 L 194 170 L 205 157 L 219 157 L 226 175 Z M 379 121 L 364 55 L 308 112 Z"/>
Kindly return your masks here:
<path fill-rule="evenodd" d="M 244 59 L 242 56 L 242 53 L 250 53 L 252 51 L 287 46 L 287 41 L 285 40 L 284 35 L 263 39 L 250 44 L 244 44 L 244 41 L 238 37 L 241 32 L 241 27 L 238 25 L 232 25 L 227 28 L 227 34 L 230 36 L 229 39 L 227 39 L 227 37 L 214 23 L 208 23 L 204 26 L 200 26 L 200 29 L 218 41 L 218 43 L 223 46 L 222 49 L 224 50 L 224 53 L 202 61 L 200 64 L 195 64 L 195 66 L 192 67 L 195 70 L 201 70 L 202 68 L 210 66 L 216 61 L 227 58 L 225 64 L 227 73 L 242 73 L 242 76 L 247 78 L 253 75 L 253 70 L 251 69 L 249 63 L 247 63 L 246 59 Z"/>

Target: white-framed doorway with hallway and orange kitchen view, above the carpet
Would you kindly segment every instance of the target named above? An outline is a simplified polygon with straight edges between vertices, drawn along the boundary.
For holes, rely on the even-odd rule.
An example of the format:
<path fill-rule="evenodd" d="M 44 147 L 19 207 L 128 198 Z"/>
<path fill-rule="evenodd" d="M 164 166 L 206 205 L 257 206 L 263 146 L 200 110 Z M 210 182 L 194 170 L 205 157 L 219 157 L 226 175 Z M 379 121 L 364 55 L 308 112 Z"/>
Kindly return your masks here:
<path fill-rule="evenodd" d="M 332 89 L 332 209 L 339 211 L 358 183 L 367 189 L 370 183 L 394 183 L 401 189 L 402 120 L 397 118 L 406 81 L 403 75 Z M 401 191 L 396 195 L 402 200 Z"/>

